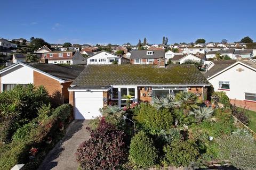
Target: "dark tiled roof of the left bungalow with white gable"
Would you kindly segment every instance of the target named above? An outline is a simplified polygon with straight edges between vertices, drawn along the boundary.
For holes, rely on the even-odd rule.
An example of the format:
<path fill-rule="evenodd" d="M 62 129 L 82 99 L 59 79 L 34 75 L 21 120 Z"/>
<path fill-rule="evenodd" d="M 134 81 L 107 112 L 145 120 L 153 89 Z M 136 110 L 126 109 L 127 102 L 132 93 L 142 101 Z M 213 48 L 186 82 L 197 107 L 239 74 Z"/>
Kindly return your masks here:
<path fill-rule="evenodd" d="M 57 64 L 23 63 L 65 81 L 74 80 L 81 73 L 81 70 L 75 70 Z"/>

